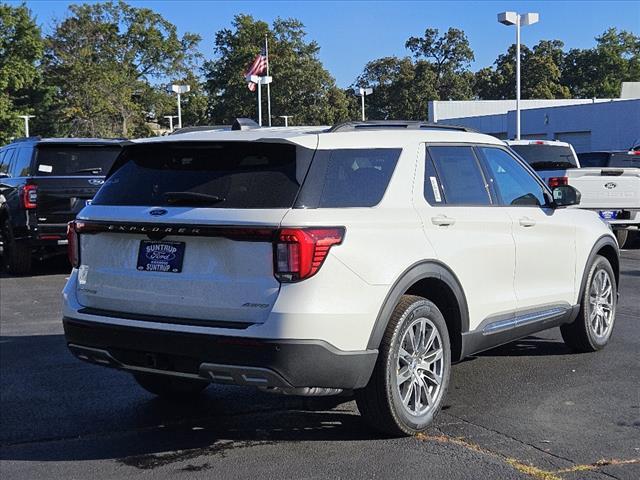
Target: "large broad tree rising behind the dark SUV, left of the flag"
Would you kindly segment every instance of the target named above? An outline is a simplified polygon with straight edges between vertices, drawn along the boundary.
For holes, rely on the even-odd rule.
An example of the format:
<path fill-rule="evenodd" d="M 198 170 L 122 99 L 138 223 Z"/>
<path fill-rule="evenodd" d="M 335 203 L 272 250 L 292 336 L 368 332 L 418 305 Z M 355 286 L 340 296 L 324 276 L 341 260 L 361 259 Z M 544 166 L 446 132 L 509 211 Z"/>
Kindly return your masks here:
<path fill-rule="evenodd" d="M 197 56 L 197 35 L 147 8 L 123 1 L 72 5 L 47 39 L 46 78 L 55 88 L 58 134 L 145 135 L 162 100 L 154 87 L 186 75 Z"/>

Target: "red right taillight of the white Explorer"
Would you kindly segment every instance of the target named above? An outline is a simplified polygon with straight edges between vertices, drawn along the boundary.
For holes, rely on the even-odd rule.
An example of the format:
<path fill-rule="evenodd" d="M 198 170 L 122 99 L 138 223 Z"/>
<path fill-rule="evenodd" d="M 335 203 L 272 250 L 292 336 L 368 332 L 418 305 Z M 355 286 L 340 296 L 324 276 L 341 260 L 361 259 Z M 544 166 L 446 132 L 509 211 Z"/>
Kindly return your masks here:
<path fill-rule="evenodd" d="M 274 243 L 275 276 L 298 282 L 315 275 L 333 245 L 344 239 L 344 228 L 283 228 Z"/>

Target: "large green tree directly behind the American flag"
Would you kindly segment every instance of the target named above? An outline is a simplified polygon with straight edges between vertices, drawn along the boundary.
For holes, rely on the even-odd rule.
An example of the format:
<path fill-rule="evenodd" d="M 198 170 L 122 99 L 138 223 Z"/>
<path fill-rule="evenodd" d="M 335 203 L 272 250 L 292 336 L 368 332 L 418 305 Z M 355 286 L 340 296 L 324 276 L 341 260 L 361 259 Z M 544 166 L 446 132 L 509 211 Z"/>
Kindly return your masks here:
<path fill-rule="evenodd" d="M 249 15 L 237 15 L 232 28 L 216 33 L 216 57 L 205 63 L 206 92 L 213 123 L 229 124 L 235 117 L 257 118 L 256 93 L 249 91 L 244 73 L 269 40 L 272 115 L 293 115 L 297 125 L 333 124 L 349 116 L 345 92 L 318 59 L 320 47 L 306 40 L 304 25 L 276 19 L 271 28 Z M 266 118 L 263 87 L 263 115 Z"/>

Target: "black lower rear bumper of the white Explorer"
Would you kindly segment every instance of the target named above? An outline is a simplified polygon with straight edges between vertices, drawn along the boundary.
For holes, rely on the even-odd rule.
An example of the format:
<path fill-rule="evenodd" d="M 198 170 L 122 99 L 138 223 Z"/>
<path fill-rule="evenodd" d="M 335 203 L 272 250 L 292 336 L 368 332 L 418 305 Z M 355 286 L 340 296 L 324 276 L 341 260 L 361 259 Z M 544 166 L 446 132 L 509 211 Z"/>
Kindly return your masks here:
<path fill-rule="evenodd" d="M 135 328 L 63 318 L 78 358 L 128 370 L 260 387 L 362 388 L 376 350 L 338 350 L 321 340 L 266 340 Z"/>

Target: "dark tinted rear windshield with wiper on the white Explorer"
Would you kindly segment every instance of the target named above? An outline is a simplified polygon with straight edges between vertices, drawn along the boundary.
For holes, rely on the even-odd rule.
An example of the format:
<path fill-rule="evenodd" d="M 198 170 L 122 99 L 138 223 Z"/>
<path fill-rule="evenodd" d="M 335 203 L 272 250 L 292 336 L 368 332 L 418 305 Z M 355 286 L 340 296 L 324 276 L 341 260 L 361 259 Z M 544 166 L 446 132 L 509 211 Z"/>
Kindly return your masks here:
<path fill-rule="evenodd" d="M 176 142 L 126 147 L 114 168 L 93 204 L 290 208 L 308 163 L 289 144 Z"/>

